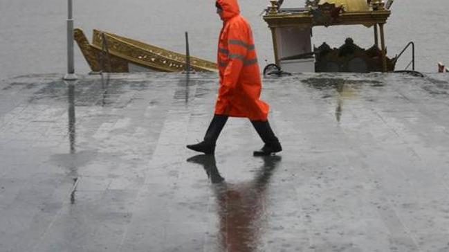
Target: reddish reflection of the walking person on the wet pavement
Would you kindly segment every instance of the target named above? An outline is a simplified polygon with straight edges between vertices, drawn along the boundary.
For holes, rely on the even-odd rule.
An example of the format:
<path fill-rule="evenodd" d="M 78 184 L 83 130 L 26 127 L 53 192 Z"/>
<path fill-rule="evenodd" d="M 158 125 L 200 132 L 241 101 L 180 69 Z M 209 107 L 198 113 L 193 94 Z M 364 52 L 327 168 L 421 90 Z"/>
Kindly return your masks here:
<path fill-rule="evenodd" d="M 266 188 L 280 160 L 280 156 L 264 156 L 264 165 L 253 180 L 237 184 L 220 183 L 214 188 L 223 251 L 257 251 L 263 231 Z M 213 155 L 197 155 L 187 161 L 203 165 L 212 183 L 223 181 Z"/>

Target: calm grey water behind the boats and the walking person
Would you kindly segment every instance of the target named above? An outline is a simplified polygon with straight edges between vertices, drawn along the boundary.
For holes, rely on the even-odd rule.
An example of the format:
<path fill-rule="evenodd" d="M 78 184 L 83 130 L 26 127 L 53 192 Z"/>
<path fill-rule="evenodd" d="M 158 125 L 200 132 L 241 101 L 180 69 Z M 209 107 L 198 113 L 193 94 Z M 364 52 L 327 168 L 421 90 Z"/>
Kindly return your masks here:
<path fill-rule="evenodd" d="M 253 26 L 259 62 L 273 62 L 271 34 L 259 16 L 267 0 L 240 0 L 242 14 Z M 221 21 L 213 0 L 77 0 L 75 26 L 98 28 L 183 52 L 184 32 L 190 33 L 192 55 L 215 60 Z M 287 0 L 284 5 L 302 6 Z M 449 2 L 445 0 L 396 0 L 386 26 L 388 55 L 399 53 L 409 41 L 416 43 L 416 69 L 437 71 L 437 62 L 449 64 Z M 0 79 L 30 73 L 66 72 L 66 1 L 0 0 Z M 340 46 L 346 37 L 363 47 L 373 44 L 372 28 L 341 26 L 315 28 L 313 43 Z M 398 62 L 403 69 L 410 62 L 407 53 Z M 89 66 L 75 48 L 75 71 L 88 73 Z"/>

